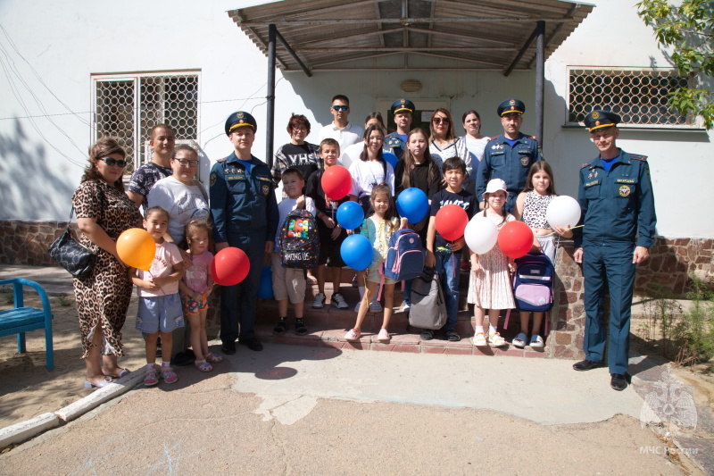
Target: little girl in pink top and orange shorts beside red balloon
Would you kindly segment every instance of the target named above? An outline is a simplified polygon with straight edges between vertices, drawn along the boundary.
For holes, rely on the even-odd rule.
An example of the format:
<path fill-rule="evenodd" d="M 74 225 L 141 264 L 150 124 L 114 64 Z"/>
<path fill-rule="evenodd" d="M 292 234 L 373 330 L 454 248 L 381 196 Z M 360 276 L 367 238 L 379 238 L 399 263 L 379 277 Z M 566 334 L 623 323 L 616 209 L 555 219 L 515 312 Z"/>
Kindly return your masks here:
<path fill-rule="evenodd" d="M 195 367 L 201 372 L 211 372 L 211 363 L 223 362 L 223 357 L 208 351 L 206 338 L 208 296 L 213 288 L 209 272 L 213 255 L 206 249 L 211 226 L 203 220 L 193 220 L 187 223 L 185 231 L 189 259 L 184 279 L 179 281 L 179 289 L 183 294 L 184 314 L 191 324 L 191 347 L 194 349 Z"/>

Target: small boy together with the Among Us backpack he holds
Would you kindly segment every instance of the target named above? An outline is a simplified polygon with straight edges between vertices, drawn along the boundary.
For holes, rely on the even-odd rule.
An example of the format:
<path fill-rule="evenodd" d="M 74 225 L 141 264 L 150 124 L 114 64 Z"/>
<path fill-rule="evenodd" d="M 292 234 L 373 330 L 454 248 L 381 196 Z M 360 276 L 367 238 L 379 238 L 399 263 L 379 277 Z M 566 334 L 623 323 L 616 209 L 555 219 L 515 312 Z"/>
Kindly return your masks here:
<path fill-rule="evenodd" d="M 272 254 L 273 294 L 278 301 L 279 321 L 273 332 L 284 334 L 287 330 L 287 300 L 295 311 L 295 334 L 307 334 L 303 322 L 305 300 L 305 269 L 317 262 L 320 249 L 315 222 L 315 203 L 303 196 L 303 172 L 293 167 L 282 174 L 283 193 L 286 198 L 278 204 L 279 221 L 282 226 L 275 236 Z"/>

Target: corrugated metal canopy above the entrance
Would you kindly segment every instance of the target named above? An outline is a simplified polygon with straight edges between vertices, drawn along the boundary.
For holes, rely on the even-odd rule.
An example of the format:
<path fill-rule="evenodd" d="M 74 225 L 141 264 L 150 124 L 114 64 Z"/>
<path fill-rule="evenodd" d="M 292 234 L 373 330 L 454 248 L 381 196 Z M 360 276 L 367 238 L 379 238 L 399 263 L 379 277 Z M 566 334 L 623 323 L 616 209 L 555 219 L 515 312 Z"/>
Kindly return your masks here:
<path fill-rule="evenodd" d="M 547 58 L 592 10 L 560 0 L 285 0 L 228 15 L 266 55 L 269 25 L 276 25 L 286 46 L 276 48 L 276 63 L 284 72 L 509 75 L 533 68 L 538 21 Z"/>

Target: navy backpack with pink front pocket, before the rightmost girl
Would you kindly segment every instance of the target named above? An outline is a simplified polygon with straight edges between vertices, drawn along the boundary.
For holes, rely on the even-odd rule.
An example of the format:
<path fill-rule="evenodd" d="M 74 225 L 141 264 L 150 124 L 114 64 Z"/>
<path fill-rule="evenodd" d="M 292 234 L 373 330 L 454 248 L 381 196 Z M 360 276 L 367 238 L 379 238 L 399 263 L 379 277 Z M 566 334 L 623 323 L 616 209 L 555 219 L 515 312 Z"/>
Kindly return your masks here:
<path fill-rule="evenodd" d="M 516 260 L 513 275 L 513 297 L 516 309 L 544 313 L 552 308 L 552 285 L 555 268 L 548 256 L 527 254 Z"/>

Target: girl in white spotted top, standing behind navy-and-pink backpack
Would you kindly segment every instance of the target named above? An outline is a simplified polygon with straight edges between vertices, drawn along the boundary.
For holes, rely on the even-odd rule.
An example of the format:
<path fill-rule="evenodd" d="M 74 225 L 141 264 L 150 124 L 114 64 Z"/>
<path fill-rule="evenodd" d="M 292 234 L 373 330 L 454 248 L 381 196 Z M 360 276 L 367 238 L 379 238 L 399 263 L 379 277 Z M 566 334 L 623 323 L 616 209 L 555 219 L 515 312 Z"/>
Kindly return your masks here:
<path fill-rule="evenodd" d="M 516 220 L 524 221 L 533 230 L 535 236 L 531 253 L 543 253 L 555 263 L 555 233 L 561 237 L 572 238 L 573 231 L 563 230 L 559 226 L 552 227 L 545 219 L 545 211 L 555 198 L 555 185 L 552 182 L 552 169 L 545 161 L 536 162 L 528 171 L 526 188 L 516 199 L 516 209 L 513 214 Z M 572 223 L 576 225 L 577 223 Z M 539 335 L 544 313 L 533 313 L 533 334 L 530 338 L 530 347 L 544 347 L 543 338 Z M 528 335 L 528 322 L 530 313 L 520 313 L 520 332 L 513 339 L 515 347 L 526 347 Z"/>

